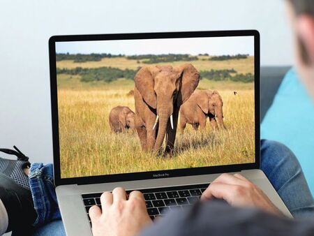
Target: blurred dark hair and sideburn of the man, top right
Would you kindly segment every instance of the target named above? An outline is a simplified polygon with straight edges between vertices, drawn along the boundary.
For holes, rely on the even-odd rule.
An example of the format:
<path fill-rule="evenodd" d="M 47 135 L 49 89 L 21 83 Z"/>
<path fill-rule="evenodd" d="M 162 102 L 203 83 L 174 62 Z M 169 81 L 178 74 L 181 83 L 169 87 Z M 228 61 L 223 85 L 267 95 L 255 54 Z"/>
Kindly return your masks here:
<path fill-rule="evenodd" d="M 308 14 L 313 15 L 314 17 L 314 0 L 288 0 L 288 1 L 292 3 L 294 12 L 297 15 Z M 308 64 L 311 61 L 311 59 L 308 56 L 308 53 L 306 52 L 304 43 L 300 38 L 298 39 L 298 43 L 301 50 L 301 58 L 306 64 Z"/>

